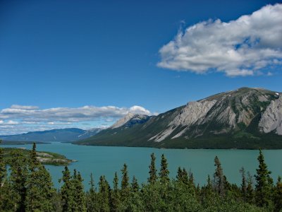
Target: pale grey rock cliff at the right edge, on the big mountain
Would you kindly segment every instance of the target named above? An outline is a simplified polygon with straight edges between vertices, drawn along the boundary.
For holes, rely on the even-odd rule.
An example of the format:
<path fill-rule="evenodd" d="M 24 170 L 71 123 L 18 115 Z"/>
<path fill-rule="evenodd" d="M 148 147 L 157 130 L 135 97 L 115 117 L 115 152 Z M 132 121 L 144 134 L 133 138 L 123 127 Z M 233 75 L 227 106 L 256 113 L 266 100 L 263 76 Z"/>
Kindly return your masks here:
<path fill-rule="evenodd" d="M 278 93 L 276 93 L 278 95 Z M 266 107 L 259 121 L 259 129 L 264 133 L 275 131 L 276 134 L 282 135 L 282 97 L 272 100 Z"/>

